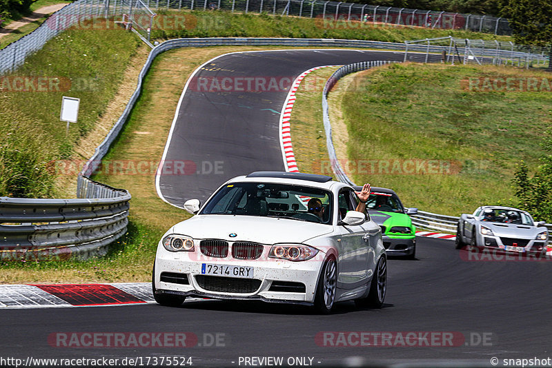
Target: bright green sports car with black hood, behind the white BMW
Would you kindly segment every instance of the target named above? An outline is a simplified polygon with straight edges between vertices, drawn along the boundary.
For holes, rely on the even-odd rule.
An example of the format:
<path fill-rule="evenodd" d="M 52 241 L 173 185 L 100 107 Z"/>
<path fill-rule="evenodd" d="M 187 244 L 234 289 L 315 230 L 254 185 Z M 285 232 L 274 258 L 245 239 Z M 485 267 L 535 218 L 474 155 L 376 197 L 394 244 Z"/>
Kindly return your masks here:
<path fill-rule="evenodd" d="M 362 187 L 355 187 L 355 190 L 360 191 Z M 417 208 L 404 207 L 397 193 L 391 189 L 372 187 L 366 211 L 382 228 L 388 255 L 416 257 L 416 228 L 409 215 L 417 214 Z"/>

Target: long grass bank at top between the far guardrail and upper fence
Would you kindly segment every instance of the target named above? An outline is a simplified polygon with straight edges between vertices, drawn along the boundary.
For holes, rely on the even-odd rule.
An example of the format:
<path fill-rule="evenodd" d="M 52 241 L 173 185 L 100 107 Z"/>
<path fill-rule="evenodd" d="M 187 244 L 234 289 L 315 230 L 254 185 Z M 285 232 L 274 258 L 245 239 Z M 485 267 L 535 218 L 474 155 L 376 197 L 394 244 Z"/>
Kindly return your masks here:
<path fill-rule="evenodd" d="M 380 25 L 359 21 L 328 21 L 299 17 L 281 17 L 266 13 L 242 14 L 224 11 L 157 10 L 152 38 L 179 37 L 296 37 L 323 39 L 361 39 L 386 42 L 459 37 L 510 41 L 511 37 L 495 36 L 466 30 L 432 30 L 428 28 Z"/>

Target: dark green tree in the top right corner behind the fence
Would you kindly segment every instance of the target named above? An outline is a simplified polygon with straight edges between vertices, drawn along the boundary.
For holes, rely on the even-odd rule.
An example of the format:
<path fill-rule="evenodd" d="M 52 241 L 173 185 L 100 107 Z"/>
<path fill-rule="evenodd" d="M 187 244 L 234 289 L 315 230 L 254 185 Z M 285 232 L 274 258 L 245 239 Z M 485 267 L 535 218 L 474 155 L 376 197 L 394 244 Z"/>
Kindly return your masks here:
<path fill-rule="evenodd" d="M 552 71 L 552 2 L 509 0 L 502 16 L 510 19 L 516 43 L 551 47 L 548 68 Z"/>

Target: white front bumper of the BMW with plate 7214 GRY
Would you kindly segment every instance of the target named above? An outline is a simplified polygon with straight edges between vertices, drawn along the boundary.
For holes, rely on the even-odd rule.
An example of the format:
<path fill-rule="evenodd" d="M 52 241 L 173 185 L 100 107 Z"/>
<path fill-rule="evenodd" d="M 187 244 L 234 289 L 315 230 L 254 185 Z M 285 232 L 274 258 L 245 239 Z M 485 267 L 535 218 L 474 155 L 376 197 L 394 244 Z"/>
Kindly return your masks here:
<path fill-rule="evenodd" d="M 264 300 L 276 303 L 311 304 L 314 302 L 317 280 L 323 261 L 318 257 L 302 262 L 275 260 L 273 258 L 257 260 L 235 260 L 228 258 L 211 258 L 201 256 L 195 258 L 195 253 L 166 252 L 158 249 L 155 260 L 155 289 L 158 293 L 176 294 L 182 296 L 197 296 L 200 298 L 219 298 L 235 300 Z M 178 257 L 175 259 L 175 257 Z M 320 257 L 322 258 L 322 257 Z M 201 274 L 203 263 L 213 265 L 237 265 L 253 267 L 253 279 L 221 277 Z M 164 280 L 161 280 L 164 274 Z M 171 277 L 167 277 L 170 275 Z M 199 278 L 201 280 L 199 280 Z M 206 283 L 205 280 L 208 280 Z M 250 282 L 253 280 L 253 282 Z M 200 282 L 201 281 L 201 282 Z M 239 292 L 221 292 L 224 283 L 248 284 L 250 290 Z M 276 287 L 276 284 L 293 283 L 304 285 L 300 292 L 293 287 Z M 253 286 L 250 286 L 250 285 Z M 273 285 L 274 284 L 274 285 Z M 293 291 L 290 291 L 293 289 Z"/>

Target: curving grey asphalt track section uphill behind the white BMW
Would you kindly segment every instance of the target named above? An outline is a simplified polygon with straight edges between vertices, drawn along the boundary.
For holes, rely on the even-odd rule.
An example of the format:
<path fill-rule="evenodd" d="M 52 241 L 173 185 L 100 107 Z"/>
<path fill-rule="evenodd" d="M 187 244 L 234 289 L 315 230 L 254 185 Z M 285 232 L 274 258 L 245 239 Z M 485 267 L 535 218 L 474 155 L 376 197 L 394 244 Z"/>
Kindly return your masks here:
<path fill-rule="evenodd" d="M 433 60 L 439 57 L 432 55 Z M 424 61 L 425 54 L 409 58 Z M 164 156 L 167 170 L 157 178 L 158 194 L 182 207 L 190 198 L 203 203 L 235 176 L 257 170 L 285 171 L 279 118 L 289 85 L 299 74 L 321 65 L 403 59 L 401 52 L 282 50 L 237 52 L 206 63 L 181 96 Z M 244 92 L 246 83 L 235 88 L 235 81 L 245 77 L 255 79 L 250 92 Z M 277 81 L 277 88 L 270 88 L 271 79 Z M 266 88 L 255 88 L 258 80 L 266 81 Z M 213 81 L 221 83 L 220 88 Z M 175 174 L 179 163 L 186 165 L 180 171 L 184 175 Z"/>

